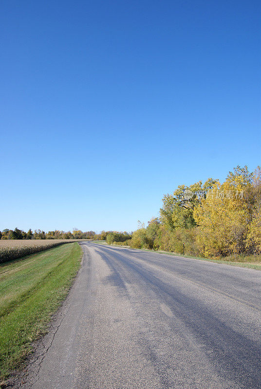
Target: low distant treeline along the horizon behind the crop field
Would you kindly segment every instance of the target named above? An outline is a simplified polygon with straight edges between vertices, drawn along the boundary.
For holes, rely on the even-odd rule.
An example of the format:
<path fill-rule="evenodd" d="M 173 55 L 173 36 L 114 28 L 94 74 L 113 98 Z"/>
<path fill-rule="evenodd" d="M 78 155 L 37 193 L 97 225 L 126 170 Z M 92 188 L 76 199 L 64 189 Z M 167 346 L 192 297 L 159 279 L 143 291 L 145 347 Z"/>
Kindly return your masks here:
<path fill-rule="evenodd" d="M 41 231 L 35 230 L 34 232 L 30 229 L 28 232 L 19 230 L 5 229 L 0 231 L 0 239 L 93 239 L 95 237 L 94 231 L 82 232 L 81 230 L 74 229 L 73 232 L 68 231 Z"/>

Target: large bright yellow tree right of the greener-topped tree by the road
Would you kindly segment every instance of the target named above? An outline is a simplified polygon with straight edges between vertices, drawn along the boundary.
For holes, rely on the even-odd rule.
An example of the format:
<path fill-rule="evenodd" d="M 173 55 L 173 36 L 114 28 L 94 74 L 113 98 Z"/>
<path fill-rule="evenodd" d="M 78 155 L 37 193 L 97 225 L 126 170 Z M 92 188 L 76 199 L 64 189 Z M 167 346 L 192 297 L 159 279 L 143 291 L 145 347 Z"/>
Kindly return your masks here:
<path fill-rule="evenodd" d="M 247 166 L 238 166 L 234 172 L 229 172 L 223 184 L 217 181 L 194 208 L 193 217 L 199 226 L 197 245 L 205 257 L 245 251 L 251 220 L 246 194 L 251 182 L 252 174 Z"/>

